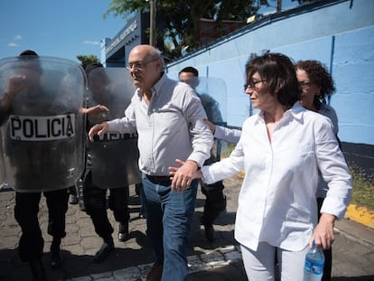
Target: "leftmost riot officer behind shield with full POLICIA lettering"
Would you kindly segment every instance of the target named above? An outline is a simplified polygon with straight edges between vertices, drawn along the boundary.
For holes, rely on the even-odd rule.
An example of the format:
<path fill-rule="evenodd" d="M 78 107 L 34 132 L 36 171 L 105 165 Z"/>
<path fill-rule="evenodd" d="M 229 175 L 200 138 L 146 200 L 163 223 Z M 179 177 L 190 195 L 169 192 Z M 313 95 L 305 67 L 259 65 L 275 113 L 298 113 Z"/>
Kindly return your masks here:
<path fill-rule="evenodd" d="M 49 62 L 58 65 L 60 61 Z M 67 69 L 78 70 L 78 85 L 84 89 L 84 75 L 79 68 L 70 62 L 61 63 Z M 56 98 L 59 90 L 71 93 L 59 89 L 63 88 L 63 76 L 69 70 L 66 73 L 57 71 L 61 67 L 56 67 L 56 71 L 44 70 L 42 58 L 36 52 L 24 51 L 0 65 L 4 67 L 1 75 L 7 80 L 0 108 L 6 180 L 15 190 L 14 217 L 22 229 L 18 254 L 21 260 L 29 262 L 34 280 L 46 280 L 39 203 L 43 194 L 48 207 L 48 234 L 52 237 L 51 267 L 61 267 L 68 187 L 81 173 L 79 163 L 83 161 L 79 157 L 83 155 L 79 103 L 71 100 L 74 97 Z M 79 87 L 72 85 L 72 88 L 79 93 Z M 83 95 L 84 91 L 80 93 Z M 83 96 L 75 98 L 80 104 L 83 102 Z"/>

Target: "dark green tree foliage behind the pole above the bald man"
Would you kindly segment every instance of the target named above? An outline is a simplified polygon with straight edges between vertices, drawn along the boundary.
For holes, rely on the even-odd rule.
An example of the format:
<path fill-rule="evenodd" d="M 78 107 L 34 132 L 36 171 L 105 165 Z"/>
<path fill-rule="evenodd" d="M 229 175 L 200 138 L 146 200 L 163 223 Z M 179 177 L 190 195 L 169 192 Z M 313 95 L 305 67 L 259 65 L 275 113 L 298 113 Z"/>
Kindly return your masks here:
<path fill-rule="evenodd" d="M 183 49 L 199 47 L 197 38 L 201 18 L 222 21 L 247 22 L 266 0 L 154 0 L 158 42 L 164 42 L 164 55 L 174 59 Z M 149 12 L 149 0 L 112 0 L 104 18 L 109 14 L 124 19 L 138 12 Z M 160 47 L 160 46 L 159 46 Z"/>

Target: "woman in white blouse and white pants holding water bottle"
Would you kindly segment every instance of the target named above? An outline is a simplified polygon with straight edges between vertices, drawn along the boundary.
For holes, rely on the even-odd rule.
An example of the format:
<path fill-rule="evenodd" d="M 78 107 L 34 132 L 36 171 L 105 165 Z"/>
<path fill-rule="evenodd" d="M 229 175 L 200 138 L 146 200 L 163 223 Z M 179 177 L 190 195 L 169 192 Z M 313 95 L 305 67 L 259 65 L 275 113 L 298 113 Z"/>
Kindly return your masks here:
<path fill-rule="evenodd" d="M 195 177 L 215 183 L 244 169 L 235 239 L 248 279 L 274 280 L 277 255 L 282 281 L 303 280 L 312 241 L 321 248 L 332 245 L 334 221 L 351 200 L 351 175 L 332 123 L 297 102 L 299 83 L 288 57 L 266 53 L 251 58 L 246 73 L 246 93 L 260 112 L 244 122 L 231 155 L 201 167 Z M 170 170 L 173 176 L 177 168 Z M 318 171 L 329 191 L 317 224 Z M 180 185 L 175 182 L 173 189 Z"/>

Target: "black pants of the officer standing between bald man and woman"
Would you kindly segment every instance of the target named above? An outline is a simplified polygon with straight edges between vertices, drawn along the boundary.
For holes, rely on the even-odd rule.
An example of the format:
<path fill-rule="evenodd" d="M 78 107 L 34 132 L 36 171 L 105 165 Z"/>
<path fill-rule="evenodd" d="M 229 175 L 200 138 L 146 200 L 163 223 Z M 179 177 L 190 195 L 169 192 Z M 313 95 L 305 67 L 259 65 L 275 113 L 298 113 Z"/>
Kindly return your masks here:
<path fill-rule="evenodd" d="M 224 185 L 222 181 L 217 183 L 200 183 L 201 192 L 206 196 L 204 212 L 201 217 L 202 224 L 212 224 L 226 209 L 226 197 L 223 194 Z"/>

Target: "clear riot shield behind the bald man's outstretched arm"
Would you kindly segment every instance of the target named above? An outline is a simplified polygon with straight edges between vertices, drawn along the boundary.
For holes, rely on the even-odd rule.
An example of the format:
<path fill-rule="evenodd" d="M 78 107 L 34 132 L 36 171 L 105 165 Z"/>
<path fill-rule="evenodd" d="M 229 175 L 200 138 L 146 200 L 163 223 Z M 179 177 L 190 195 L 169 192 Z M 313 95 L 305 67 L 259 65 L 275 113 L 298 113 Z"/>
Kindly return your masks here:
<path fill-rule="evenodd" d="M 88 106 L 103 105 L 108 114 L 89 116 L 89 126 L 124 117 L 135 93 L 130 73 L 125 68 L 97 68 L 89 72 Z M 141 183 L 138 167 L 137 135 L 107 133 L 88 144 L 92 183 L 101 188 L 118 188 Z"/>

